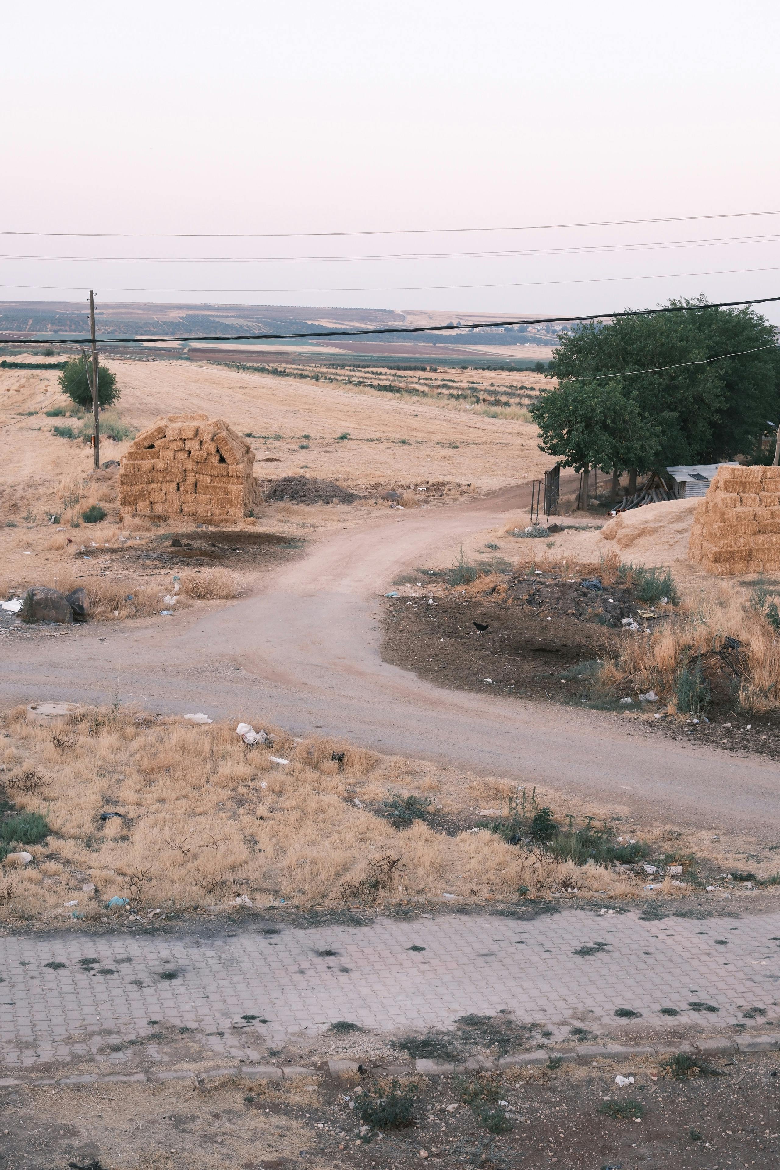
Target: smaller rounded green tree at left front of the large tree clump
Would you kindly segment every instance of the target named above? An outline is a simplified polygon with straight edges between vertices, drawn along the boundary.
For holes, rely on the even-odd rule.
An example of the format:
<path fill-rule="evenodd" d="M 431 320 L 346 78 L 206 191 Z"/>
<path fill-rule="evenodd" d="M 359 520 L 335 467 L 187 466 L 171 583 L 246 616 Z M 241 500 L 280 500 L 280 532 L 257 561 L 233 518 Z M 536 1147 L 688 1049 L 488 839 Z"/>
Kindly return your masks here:
<path fill-rule="evenodd" d="M 543 450 L 584 473 L 587 507 L 591 468 L 644 466 L 658 442 L 657 425 L 626 395 L 621 379 L 571 380 L 541 392 L 531 407 Z"/>

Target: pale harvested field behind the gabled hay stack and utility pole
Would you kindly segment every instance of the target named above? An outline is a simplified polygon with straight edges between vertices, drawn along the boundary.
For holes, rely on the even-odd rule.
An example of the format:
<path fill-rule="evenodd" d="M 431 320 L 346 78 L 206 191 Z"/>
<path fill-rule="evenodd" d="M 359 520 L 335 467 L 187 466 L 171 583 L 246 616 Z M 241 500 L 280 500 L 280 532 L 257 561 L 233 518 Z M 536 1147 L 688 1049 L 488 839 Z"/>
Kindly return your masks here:
<path fill-rule="evenodd" d="M 248 530 L 272 528 L 287 537 L 310 536 L 325 525 L 365 518 L 375 511 L 384 488 L 402 491 L 437 481 L 449 484 L 450 495 L 485 491 L 533 477 L 550 462 L 538 450 L 530 424 L 477 414 L 457 401 L 442 406 L 428 398 L 398 399 L 366 386 L 315 383 L 304 374 L 274 377 L 208 364 L 115 360 L 111 365 L 123 391 L 122 420 L 136 429 L 164 413 L 202 411 L 223 417 L 253 436 L 256 476 L 334 480 L 370 497 L 351 505 L 267 505 L 260 525 L 248 521 Z M 492 384 L 503 376 L 486 377 Z M 15 589 L 51 584 L 55 577 L 73 576 L 74 555 L 91 557 L 91 549 L 115 545 L 118 534 L 136 543 L 140 537 L 141 544 L 147 539 L 138 522 L 118 526 L 115 475 L 92 476 L 90 448 L 54 434 L 55 426 L 73 420 L 46 412 L 67 404 L 56 372 L 0 371 L 5 578 L 0 584 Z M 119 459 L 127 446 L 129 441 L 105 440 L 102 460 Z M 81 523 L 81 512 L 91 504 L 105 509 L 104 523 Z M 58 517 L 54 523 L 53 516 Z M 74 523 L 78 524 L 75 530 Z M 150 576 L 156 574 L 139 571 L 130 584 L 149 584 Z"/>

